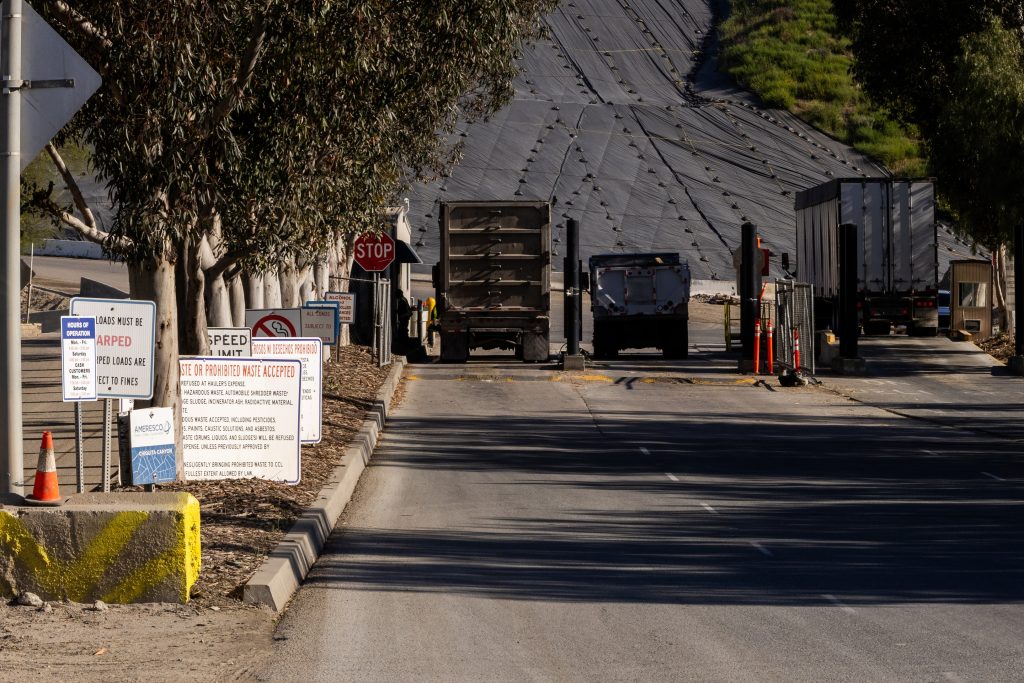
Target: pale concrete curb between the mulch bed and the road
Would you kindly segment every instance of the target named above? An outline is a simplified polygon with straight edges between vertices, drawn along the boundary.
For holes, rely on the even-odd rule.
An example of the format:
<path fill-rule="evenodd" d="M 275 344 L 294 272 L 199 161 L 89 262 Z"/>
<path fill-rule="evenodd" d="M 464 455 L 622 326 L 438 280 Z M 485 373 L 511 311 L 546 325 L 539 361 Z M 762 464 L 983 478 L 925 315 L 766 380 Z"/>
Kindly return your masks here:
<path fill-rule="evenodd" d="M 355 484 L 373 456 L 404 367 L 404 360 L 395 360 L 391 366 L 391 372 L 377 392 L 367 419 L 362 421 L 352 442 L 346 446 L 341 464 L 331 473 L 316 500 L 296 520 L 246 584 L 243 601 L 266 605 L 280 612 L 302 585 L 324 551 L 335 522 L 351 500 Z"/>

